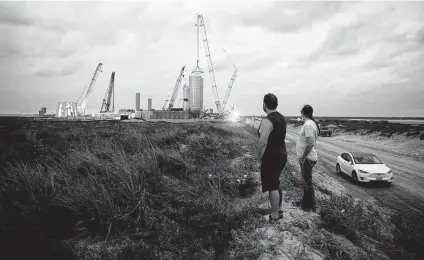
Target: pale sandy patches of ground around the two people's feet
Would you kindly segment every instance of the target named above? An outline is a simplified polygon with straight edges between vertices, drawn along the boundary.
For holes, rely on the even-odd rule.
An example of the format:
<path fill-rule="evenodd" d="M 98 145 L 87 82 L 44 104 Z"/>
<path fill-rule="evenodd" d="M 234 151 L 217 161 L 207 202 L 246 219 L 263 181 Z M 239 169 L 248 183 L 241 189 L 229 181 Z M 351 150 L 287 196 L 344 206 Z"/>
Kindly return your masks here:
<path fill-rule="evenodd" d="M 290 148 L 291 149 L 291 148 Z M 248 152 L 243 156 L 251 158 L 252 155 Z M 243 157 L 233 160 L 232 167 L 237 168 L 243 163 Z M 296 158 L 293 154 L 289 155 L 289 161 L 295 165 L 295 169 L 290 173 L 299 175 L 300 169 L 297 166 Z M 250 172 L 249 176 L 254 177 L 256 183 L 260 183 L 260 173 Z M 299 176 L 297 176 L 299 177 Z M 284 178 L 284 177 L 283 177 Z M 319 186 L 316 191 L 317 197 L 327 197 L 322 190 L 330 190 L 333 193 L 343 194 L 346 188 L 334 178 L 328 178 L 322 166 L 318 166 L 318 170 L 314 176 L 314 182 Z M 300 192 L 287 192 L 283 190 L 283 205 L 284 217 L 277 224 L 268 222 L 269 215 L 263 215 L 263 225 L 253 230 L 255 241 L 260 244 L 266 253 L 263 253 L 258 260 L 290 260 L 290 259 L 311 259 L 323 260 L 326 255 L 320 250 L 311 246 L 312 241 L 324 241 L 330 239 L 336 243 L 338 248 L 343 250 L 352 259 L 354 257 L 363 256 L 363 249 L 346 239 L 344 236 L 328 232 L 320 227 L 321 218 L 319 212 L 305 212 L 298 207 L 292 205 L 292 202 L 298 200 Z M 254 197 L 249 198 L 249 201 L 256 201 L 258 207 L 269 211 L 270 205 L 267 193 L 262 193 L 260 186 Z M 365 203 L 367 204 L 367 203 Z M 319 210 L 319 209 L 318 209 Z M 381 259 L 387 259 L 384 254 L 381 254 Z"/>

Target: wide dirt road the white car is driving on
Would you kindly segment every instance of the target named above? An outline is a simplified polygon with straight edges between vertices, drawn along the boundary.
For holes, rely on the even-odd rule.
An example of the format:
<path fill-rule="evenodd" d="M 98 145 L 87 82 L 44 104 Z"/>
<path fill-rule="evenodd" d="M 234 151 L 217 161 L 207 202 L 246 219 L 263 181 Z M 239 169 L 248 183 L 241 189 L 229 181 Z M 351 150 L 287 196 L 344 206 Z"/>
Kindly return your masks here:
<path fill-rule="evenodd" d="M 289 125 L 286 140 L 288 152 L 295 153 L 295 143 L 300 128 Z M 319 164 L 329 177 L 345 186 L 346 192 L 364 201 L 379 202 L 383 206 L 404 214 L 424 216 L 424 162 L 414 157 L 402 156 L 388 150 L 375 150 L 369 146 L 352 144 L 332 137 L 320 137 L 316 145 Z M 343 151 L 362 151 L 376 154 L 392 169 L 394 182 L 390 187 L 379 183 L 355 185 L 349 177 L 336 174 L 336 157 Z"/>

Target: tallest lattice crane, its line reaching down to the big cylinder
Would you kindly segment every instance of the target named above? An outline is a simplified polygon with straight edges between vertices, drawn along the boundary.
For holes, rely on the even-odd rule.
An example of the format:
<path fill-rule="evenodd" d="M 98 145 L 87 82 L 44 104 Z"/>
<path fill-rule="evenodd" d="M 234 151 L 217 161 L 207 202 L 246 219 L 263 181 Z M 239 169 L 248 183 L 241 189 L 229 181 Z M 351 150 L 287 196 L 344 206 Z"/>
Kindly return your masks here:
<path fill-rule="evenodd" d="M 212 90 L 213 90 L 213 94 L 214 94 L 214 97 L 215 97 L 216 109 L 217 109 L 218 113 L 220 113 L 221 112 L 221 103 L 219 101 L 218 90 L 217 90 L 216 82 L 215 82 L 215 72 L 213 70 L 211 53 L 209 51 L 209 43 L 208 43 L 208 37 L 207 37 L 207 34 L 206 34 L 206 26 L 205 26 L 205 22 L 203 20 L 203 15 L 197 14 L 197 56 L 199 56 L 199 28 L 200 27 L 202 27 L 203 44 L 205 46 L 206 60 L 208 62 L 209 76 L 211 78 Z M 197 63 L 199 63 L 199 58 L 197 59 Z M 197 65 L 199 65 L 199 64 L 197 64 Z"/>

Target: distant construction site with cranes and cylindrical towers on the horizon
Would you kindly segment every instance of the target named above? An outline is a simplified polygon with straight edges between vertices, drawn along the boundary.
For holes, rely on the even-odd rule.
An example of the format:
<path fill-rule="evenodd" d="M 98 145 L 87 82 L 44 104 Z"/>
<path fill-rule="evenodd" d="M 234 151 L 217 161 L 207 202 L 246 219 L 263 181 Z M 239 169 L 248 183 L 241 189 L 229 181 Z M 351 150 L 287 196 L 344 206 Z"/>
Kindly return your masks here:
<path fill-rule="evenodd" d="M 87 114 L 86 107 L 89 102 L 90 94 L 93 92 L 96 81 L 102 72 L 103 63 L 99 63 L 91 77 L 90 83 L 83 89 L 77 101 L 58 102 L 56 108 L 56 118 L 62 119 L 93 119 L 93 120 L 125 120 L 125 119 L 142 119 L 142 120 L 155 120 L 155 119 L 218 119 L 218 120 L 237 120 L 237 115 L 234 110 L 234 105 L 229 107 L 227 105 L 230 97 L 231 89 L 237 77 L 237 67 L 234 62 L 227 55 L 231 61 L 234 72 L 229 80 L 227 91 L 224 100 L 220 101 L 218 88 L 215 80 L 214 66 L 212 63 L 212 56 L 210 53 L 208 37 L 206 33 L 206 26 L 203 15 L 197 14 L 197 60 L 196 67 L 189 74 L 188 84 L 184 81 L 184 74 L 186 73 L 186 66 L 183 66 L 178 74 L 177 80 L 170 91 L 170 98 L 165 99 L 163 106 L 156 110 L 152 108 L 152 99 L 148 99 L 148 109 L 140 109 L 140 93 L 136 93 L 135 109 L 131 108 L 115 108 L 115 71 L 112 72 L 107 87 L 106 93 L 102 100 L 102 105 L 98 113 Z M 213 98 L 215 108 L 206 109 L 204 105 L 204 71 L 199 66 L 200 60 L 200 40 L 203 41 L 205 57 L 208 64 L 208 73 L 210 76 Z M 225 52 L 225 50 L 224 50 Z M 182 98 L 178 100 L 179 90 L 182 88 Z M 117 93 L 119 93 L 119 88 Z M 119 94 L 118 94 L 119 95 Z M 216 111 L 214 111 L 216 109 Z"/>

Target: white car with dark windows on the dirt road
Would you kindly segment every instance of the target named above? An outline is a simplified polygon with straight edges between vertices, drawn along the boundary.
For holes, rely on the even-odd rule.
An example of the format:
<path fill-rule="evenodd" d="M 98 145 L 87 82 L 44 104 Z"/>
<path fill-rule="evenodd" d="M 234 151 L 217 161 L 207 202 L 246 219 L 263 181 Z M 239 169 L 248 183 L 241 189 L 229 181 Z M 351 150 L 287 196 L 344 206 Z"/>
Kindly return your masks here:
<path fill-rule="evenodd" d="M 377 156 L 371 153 L 345 152 L 337 156 L 337 174 L 352 177 L 357 184 L 370 181 L 393 182 L 393 173 Z"/>

